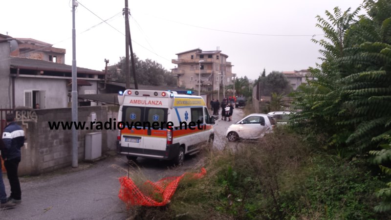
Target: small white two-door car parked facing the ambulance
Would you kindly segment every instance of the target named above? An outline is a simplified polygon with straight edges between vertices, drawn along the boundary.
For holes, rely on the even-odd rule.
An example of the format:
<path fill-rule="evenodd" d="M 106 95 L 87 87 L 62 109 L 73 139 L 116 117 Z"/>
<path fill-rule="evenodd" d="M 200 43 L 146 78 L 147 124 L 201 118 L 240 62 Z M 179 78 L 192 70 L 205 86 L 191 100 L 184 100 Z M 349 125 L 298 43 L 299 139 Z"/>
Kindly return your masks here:
<path fill-rule="evenodd" d="M 276 122 L 267 114 L 249 114 L 237 123 L 228 127 L 226 136 L 229 141 L 240 138 L 260 138 L 267 132 L 272 132 Z"/>

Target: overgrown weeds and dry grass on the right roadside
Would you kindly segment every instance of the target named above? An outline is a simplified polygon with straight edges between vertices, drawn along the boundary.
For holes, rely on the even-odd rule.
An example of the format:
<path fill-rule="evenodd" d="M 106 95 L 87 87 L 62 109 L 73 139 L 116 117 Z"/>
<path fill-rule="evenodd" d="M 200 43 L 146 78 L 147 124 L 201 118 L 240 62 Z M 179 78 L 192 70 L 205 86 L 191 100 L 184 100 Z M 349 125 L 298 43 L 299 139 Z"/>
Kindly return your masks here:
<path fill-rule="evenodd" d="M 373 212 L 372 192 L 383 183 L 362 159 L 311 151 L 284 126 L 235 150 L 201 154 L 207 176 L 181 181 L 165 208 L 133 208 L 132 219 L 388 219 Z"/>

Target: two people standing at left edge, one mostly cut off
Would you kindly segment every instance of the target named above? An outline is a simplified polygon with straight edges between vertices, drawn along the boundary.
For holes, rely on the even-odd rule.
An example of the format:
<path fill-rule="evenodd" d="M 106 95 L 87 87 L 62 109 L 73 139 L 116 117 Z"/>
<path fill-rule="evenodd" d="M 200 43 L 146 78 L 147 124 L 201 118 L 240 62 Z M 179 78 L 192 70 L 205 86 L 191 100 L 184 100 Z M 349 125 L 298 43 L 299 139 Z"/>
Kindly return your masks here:
<path fill-rule="evenodd" d="M 0 138 L 0 154 L 4 160 L 4 167 L 11 187 L 11 195 L 7 198 L 0 163 L 0 210 L 13 208 L 22 202 L 21 184 L 18 177 L 18 167 L 21 162 L 21 148 L 24 145 L 24 131 L 15 122 L 15 115 L 8 113 L 5 116 L 7 126 Z"/>

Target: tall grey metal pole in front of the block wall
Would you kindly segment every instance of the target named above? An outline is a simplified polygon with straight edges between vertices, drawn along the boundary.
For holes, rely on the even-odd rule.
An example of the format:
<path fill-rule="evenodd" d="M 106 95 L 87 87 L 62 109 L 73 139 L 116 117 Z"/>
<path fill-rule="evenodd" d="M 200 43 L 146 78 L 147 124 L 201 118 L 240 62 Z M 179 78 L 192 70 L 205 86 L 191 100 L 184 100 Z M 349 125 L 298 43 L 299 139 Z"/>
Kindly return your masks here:
<path fill-rule="evenodd" d="M 77 123 L 77 67 L 75 11 L 79 3 L 72 0 L 72 121 Z M 78 167 L 77 130 L 72 126 L 72 167 Z"/>

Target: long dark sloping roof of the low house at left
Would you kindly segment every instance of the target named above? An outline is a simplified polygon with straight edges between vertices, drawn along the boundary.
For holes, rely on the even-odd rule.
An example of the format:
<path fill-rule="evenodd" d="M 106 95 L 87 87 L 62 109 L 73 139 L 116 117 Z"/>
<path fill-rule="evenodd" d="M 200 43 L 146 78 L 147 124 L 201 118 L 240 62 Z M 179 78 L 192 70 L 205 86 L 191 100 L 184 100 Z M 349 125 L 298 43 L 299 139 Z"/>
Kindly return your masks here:
<path fill-rule="evenodd" d="M 36 60 L 24 57 L 11 57 L 10 59 L 11 68 L 20 69 L 31 69 L 31 70 L 46 70 L 54 72 L 72 72 L 72 66 L 54 63 L 44 60 Z M 83 67 L 77 67 L 77 73 L 88 73 L 88 74 L 102 74 L 105 72 L 93 69 L 87 69 Z"/>

